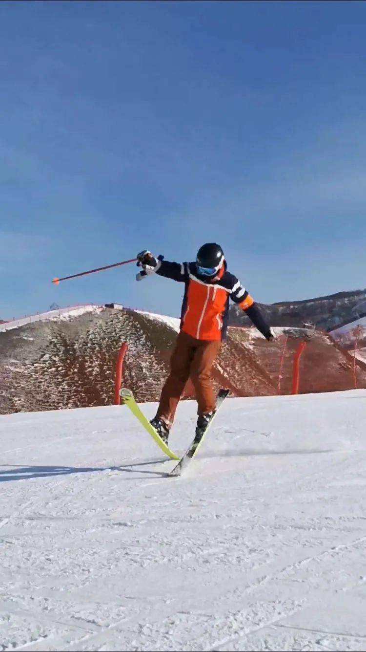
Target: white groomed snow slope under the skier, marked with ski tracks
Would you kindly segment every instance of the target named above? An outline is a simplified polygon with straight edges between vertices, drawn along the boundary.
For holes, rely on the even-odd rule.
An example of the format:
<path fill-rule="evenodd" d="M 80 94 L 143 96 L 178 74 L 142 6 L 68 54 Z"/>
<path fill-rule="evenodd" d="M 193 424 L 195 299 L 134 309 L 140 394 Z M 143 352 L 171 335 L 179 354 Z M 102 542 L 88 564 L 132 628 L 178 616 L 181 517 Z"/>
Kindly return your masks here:
<path fill-rule="evenodd" d="M 176 479 L 126 407 L 2 417 L 0 649 L 366 650 L 365 421 L 227 399 Z"/>

